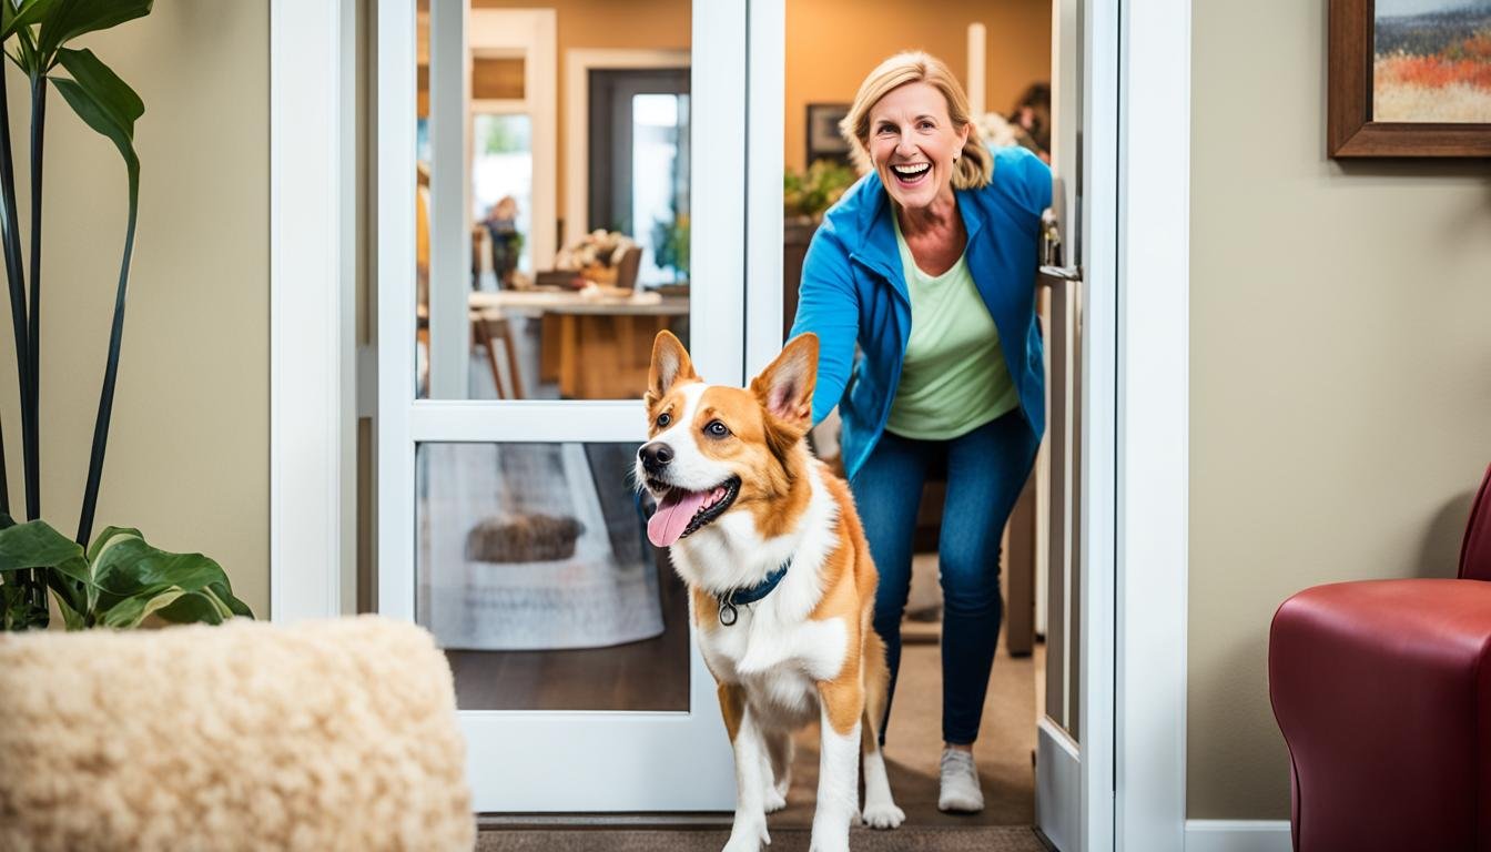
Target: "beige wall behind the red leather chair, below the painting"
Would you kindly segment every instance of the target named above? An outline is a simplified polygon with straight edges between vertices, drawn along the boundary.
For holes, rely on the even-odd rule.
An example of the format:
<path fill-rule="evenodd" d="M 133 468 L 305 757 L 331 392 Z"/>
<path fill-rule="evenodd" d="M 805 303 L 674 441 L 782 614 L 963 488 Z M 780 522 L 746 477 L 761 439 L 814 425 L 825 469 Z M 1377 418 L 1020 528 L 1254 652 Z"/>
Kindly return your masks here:
<path fill-rule="evenodd" d="M 1491 178 L 1325 158 L 1324 1 L 1191 24 L 1188 815 L 1285 819 L 1275 607 L 1451 574 L 1491 461 Z"/>

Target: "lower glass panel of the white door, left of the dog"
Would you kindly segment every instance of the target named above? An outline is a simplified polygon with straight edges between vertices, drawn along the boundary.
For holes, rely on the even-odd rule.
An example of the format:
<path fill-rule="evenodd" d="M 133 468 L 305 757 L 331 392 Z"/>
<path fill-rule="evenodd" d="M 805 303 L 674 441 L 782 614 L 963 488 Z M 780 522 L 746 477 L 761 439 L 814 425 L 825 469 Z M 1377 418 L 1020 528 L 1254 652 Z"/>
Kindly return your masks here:
<path fill-rule="evenodd" d="M 687 710 L 687 598 L 635 443 L 422 443 L 416 616 L 462 710 Z"/>

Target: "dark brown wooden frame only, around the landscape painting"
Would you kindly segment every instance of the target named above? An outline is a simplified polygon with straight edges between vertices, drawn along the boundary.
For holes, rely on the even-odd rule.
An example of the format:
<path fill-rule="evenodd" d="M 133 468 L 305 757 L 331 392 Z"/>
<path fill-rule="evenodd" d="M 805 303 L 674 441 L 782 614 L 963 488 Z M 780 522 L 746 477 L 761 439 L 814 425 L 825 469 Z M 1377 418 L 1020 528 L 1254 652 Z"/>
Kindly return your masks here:
<path fill-rule="evenodd" d="M 1372 119 L 1375 21 L 1373 0 L 1330 0 L 1330 157 L 1491 157 L 1491 124 Z"/>

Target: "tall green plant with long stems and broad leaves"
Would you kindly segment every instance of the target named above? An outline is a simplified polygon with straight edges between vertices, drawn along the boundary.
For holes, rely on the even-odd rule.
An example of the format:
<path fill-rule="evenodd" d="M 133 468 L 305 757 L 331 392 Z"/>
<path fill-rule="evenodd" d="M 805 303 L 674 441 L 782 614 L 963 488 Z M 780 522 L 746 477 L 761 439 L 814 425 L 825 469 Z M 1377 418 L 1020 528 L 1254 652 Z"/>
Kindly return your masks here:
<path fill-rule="evenodd" d="M 212 624 L 233 616 L 252 618 L 249 607 L 233 595 L 222 567 L 201 554 L 160 551 L 148 545 L 139 530 L 121 527 L 109 527 L 92 539 L 139 210 L 140 161 L 134 152 L 134 122 L 145 113 L 145 104 L 92 51 L 67 45 L 82 34 L 148 15 L 151 1 L 0 0 L 0 48 L 9 60 L 0 63 L 0 249 L 10 297 L 10 327 L 21 391 L 21 457 L 25 479 L 25 522 L 16 522 L 9 501 L 4 424 L 0 424 L 0 627 L 7 631 L 46 627 L 48 592 L 69 630 L 136 627 L 149 615 L 166 621 Z M 4 75 L 10 73 L 4 67 L 7 64 L 25 75 L 31 95 L 31 228 L 25 254 L 18 222 L 10 104 L 4 87 Z M 88 482 L 73 539 L 40 519 L 37 366 L 42 315 L 42 154 L 51 88 L 63 95 L 88 127 L 119 149 L 130 203 Z"/>

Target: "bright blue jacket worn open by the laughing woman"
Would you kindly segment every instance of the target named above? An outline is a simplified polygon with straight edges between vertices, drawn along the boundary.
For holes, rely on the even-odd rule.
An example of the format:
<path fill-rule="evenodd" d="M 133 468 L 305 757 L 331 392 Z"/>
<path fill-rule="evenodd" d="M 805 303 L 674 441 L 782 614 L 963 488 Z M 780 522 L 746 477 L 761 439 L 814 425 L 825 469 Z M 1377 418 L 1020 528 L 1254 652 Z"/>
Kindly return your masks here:
<path fill-rule="evenodd" d="M 968 269 L 999 328 L 1020 409 L 1039 437 L 1045 433 L 1045 375 L 1035 276 L 1041 212 L 1051 204 L 1051 170 L 1024 148 L 1000 148 L 994 151 L 993 182 L 954 189 L 954 195 L 968 231 Z M 829 209 L 802 263 L 792 324 L 792 336 L 819 336 L 813 422 L 839 406 L 850 477 L 886 428 L 911 336 L 911 297 L 890 216 L 890 195 L 874 172 Z"/>

